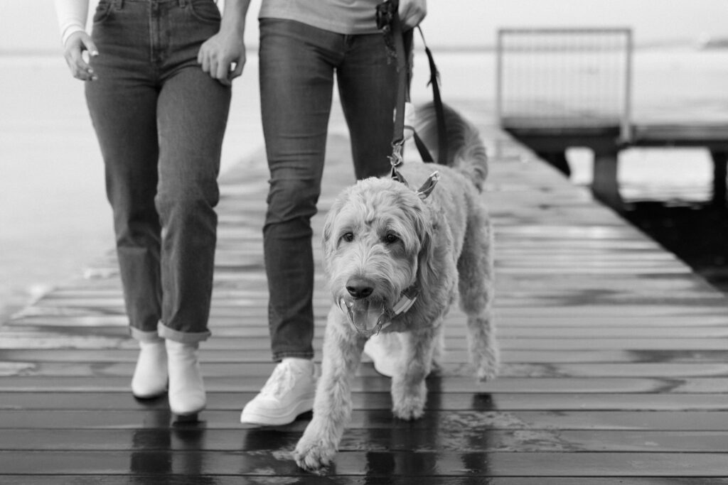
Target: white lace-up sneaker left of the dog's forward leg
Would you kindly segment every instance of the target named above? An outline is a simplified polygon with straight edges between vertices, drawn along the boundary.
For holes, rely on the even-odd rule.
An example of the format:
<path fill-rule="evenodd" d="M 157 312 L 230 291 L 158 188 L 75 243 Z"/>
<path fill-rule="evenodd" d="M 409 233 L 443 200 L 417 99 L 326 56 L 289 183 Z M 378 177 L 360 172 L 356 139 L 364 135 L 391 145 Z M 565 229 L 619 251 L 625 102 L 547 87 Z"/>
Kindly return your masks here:
<path fill-rule="evenodd" d="M 305 358 L 284 358 L 258 396 L 240 414 L 240 422 L 250 425 L 280 426 L 296 420 L 298 414 L 314 407 L 317 370 Z"/>

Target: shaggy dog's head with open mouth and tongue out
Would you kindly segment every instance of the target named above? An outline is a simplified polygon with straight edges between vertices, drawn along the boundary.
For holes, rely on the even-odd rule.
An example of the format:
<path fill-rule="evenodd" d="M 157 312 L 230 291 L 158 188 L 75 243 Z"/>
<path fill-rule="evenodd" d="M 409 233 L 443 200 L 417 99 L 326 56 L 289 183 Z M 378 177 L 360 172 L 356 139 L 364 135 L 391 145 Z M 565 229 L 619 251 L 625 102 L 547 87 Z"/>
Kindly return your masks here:
<path fill-rule="evenodd" d="M 386 178 L 360 180 L 331 207 L 323 231 L 333 300 L 365 337 L 392 318 L 432 253 L 432 219 L 421 197 Z"/>

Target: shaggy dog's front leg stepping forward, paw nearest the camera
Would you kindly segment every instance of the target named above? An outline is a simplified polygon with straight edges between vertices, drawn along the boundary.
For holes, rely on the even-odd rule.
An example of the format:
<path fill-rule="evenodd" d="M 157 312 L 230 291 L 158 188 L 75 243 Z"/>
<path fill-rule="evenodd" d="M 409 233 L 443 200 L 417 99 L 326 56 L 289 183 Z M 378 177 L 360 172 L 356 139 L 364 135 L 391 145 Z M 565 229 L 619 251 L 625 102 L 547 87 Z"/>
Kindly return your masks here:
<path fill-rule="evenodd" d="M 305 470 L 318 470 L 331 462 L 352 414 L 351 382 L 365 339 L 349 328 L 342 315 L 336 307 L 329 312 L 314 416 L 293 452 L 296 463 Z"/>

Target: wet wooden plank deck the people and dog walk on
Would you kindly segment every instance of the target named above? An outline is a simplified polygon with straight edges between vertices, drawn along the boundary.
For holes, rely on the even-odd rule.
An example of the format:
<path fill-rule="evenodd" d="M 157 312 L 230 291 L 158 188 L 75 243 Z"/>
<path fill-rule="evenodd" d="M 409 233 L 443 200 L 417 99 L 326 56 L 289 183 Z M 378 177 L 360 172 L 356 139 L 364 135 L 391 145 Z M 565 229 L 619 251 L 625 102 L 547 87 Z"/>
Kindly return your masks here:
<path fill-rule="evenodd" d="M 425 417 L 395 420 L 389 380 L 363 364 L 328 475 L 290 460 L 308 417 L 240 425 L 273 366 L 261 257 L 266 169 L 253 156 L 223 176 L 201 421 L 175 423 L 164 398 L 132 398 L 135 344 L 108 255 L 1 329 L 0 483 L 728 483 L 719 478 L 728 477 L 724 295 L 484 113 L 461 108 L 491 153 L 498 380 L 478 385 L 464 368 L 455 312 Z M 328 159 L 322 212 L 352 180 L 347 140 L 333 136 Z M 320 278 L 316 306 L 320 349 L 328 307 Z"/>

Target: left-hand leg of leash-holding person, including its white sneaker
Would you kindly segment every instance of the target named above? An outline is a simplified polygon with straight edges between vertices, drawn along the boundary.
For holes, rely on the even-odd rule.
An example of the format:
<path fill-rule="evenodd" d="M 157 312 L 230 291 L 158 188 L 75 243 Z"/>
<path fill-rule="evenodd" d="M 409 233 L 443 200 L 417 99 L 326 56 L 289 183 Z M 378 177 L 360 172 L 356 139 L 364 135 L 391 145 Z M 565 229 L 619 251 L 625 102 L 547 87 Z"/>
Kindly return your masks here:
<path fill-rule="evenodd" d="M 282 425 L 313 405 L 311 217 L 342 39 L 303 23 L 261 20 L 261 109 L 271 172 L 263 235 L 272 354 L 281 363 L 242 410 L 242 422 Z"/>

